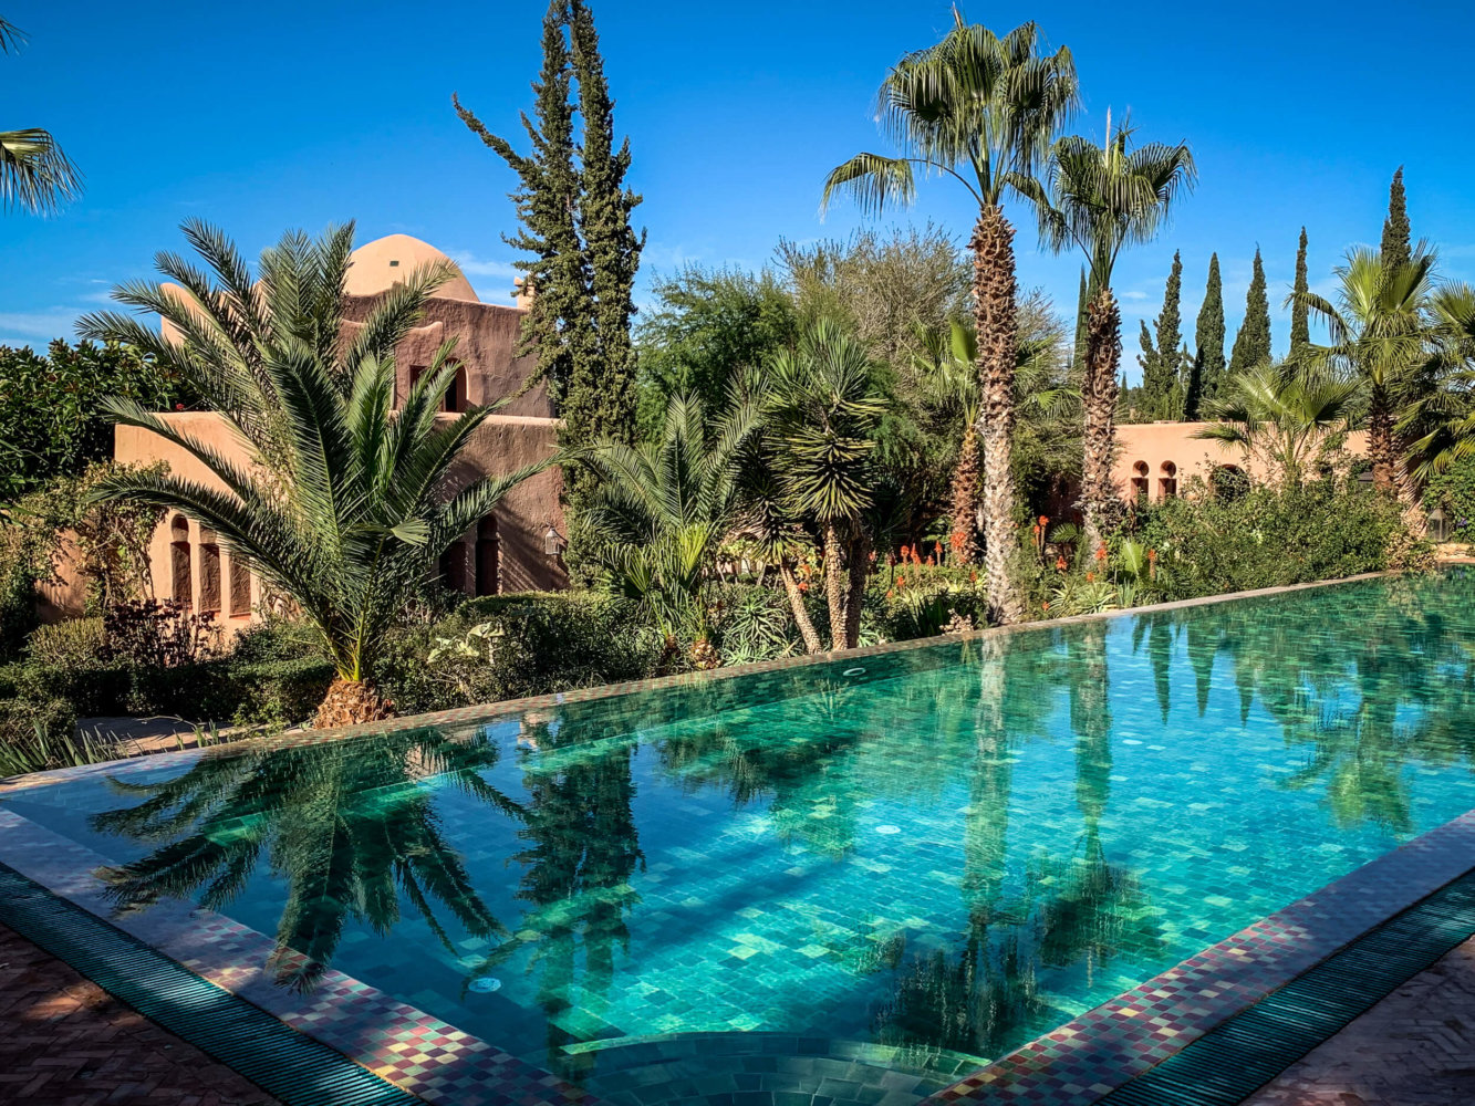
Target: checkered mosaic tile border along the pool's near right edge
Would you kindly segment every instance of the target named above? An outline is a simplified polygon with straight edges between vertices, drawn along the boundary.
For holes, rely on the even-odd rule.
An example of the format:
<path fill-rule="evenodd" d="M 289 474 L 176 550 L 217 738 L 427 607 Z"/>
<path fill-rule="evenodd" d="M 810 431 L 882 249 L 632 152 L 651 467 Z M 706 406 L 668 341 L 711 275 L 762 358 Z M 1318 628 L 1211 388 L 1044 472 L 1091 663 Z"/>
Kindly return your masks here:
<path fill-rule="evenodd" d="M 1090 1106 L 1394 914 L 1475 870 L 1475 811 L 1016 1048 L 923 1106 Z"/>

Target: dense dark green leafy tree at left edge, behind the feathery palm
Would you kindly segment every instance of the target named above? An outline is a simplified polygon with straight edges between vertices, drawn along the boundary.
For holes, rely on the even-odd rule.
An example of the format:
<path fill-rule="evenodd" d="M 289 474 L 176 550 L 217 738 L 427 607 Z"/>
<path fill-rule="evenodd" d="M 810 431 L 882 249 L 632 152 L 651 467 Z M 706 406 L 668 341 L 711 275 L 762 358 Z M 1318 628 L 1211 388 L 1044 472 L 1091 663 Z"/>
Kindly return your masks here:
<path fill-rule="evenodd" d="M 0 501 L 112 457 L 103 398 L 164 410 L 186 398 L 178 380 L 127 345 L 56 339 L 46 357 L 0 347 Z"/>

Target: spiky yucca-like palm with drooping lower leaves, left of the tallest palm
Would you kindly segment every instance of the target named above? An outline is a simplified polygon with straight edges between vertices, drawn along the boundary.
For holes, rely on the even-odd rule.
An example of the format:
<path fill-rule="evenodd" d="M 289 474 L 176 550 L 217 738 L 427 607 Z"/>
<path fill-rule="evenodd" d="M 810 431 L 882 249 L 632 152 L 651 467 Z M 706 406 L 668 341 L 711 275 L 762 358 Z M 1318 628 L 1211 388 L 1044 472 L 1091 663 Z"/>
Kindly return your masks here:
<path fill-rule="evenodd" d="M 813 519 L 823 534 L 832 647 L 854 649 L 870 571 L 861 512 L 873 498 L 869 457 L 885 403 L 873 389 L 864 347 L 826 320 L 773 358 L 766 386 L 776 491 L 785 513 Z M 848 594 L 841 575 L 847 559 Z"/>

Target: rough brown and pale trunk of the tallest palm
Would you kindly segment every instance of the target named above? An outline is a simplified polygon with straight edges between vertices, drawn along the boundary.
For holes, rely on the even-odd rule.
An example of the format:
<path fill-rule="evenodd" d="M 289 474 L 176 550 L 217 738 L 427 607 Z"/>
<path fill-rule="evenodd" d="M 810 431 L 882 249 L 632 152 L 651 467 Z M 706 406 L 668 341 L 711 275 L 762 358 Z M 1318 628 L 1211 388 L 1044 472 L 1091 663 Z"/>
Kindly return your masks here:
<path fill-rule="evenodd" d="M 1009 578 L 1015 547 L 1015 485 L 1010 469 L 1016 335 L 1013 227 L 994 204 L 984 208 L 968 243 L 974 251 L 974 321 L 978 330 L 978 435 L 984 448 L 984 565 L 988 616 L 1018 622 L 1024 605 Z"/>

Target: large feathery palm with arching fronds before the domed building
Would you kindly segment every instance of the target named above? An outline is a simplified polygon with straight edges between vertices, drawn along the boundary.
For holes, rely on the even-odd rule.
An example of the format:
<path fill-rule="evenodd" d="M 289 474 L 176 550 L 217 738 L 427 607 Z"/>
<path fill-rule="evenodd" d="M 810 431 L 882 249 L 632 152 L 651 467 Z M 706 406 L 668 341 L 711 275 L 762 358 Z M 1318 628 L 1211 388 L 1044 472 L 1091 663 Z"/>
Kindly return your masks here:
<path fill-rule="evenodd" d="M 108 476 L 94 495 L 196 519 L 296 603 L 338 669 L 319 726 L 389 717 L 392 705 L 372 683 L 386 634 L 440 553 L 509 488 L 552 462 L 473 481 L 447 498 L 451 466 L 497 408 L 437 417 L 456 378 L 453 342 L 392 411 L 394 345 L 448 277 L 447 267 L 413 273 L 347 341 L 342 289 L 351 226 L 317 242 L 286 234 L 263 254 L 260 283 L 220 232 L 190 223 L 184 234 L 218 285 L 183 258 L 161 254 L 159 270 L 181 289 L 136 282 L 114 292 L 122 304 L 164 316 L 183 335 L 180 342 L 112 311 L 88 316 L 80 327 L 174 367 L 214 403 L 246 445 L 248 462 L 226 457 L 131 400 L 114 400 L 106 408 L 119 423 L 180 447 L 220 487 L 143 469 Z"/>

